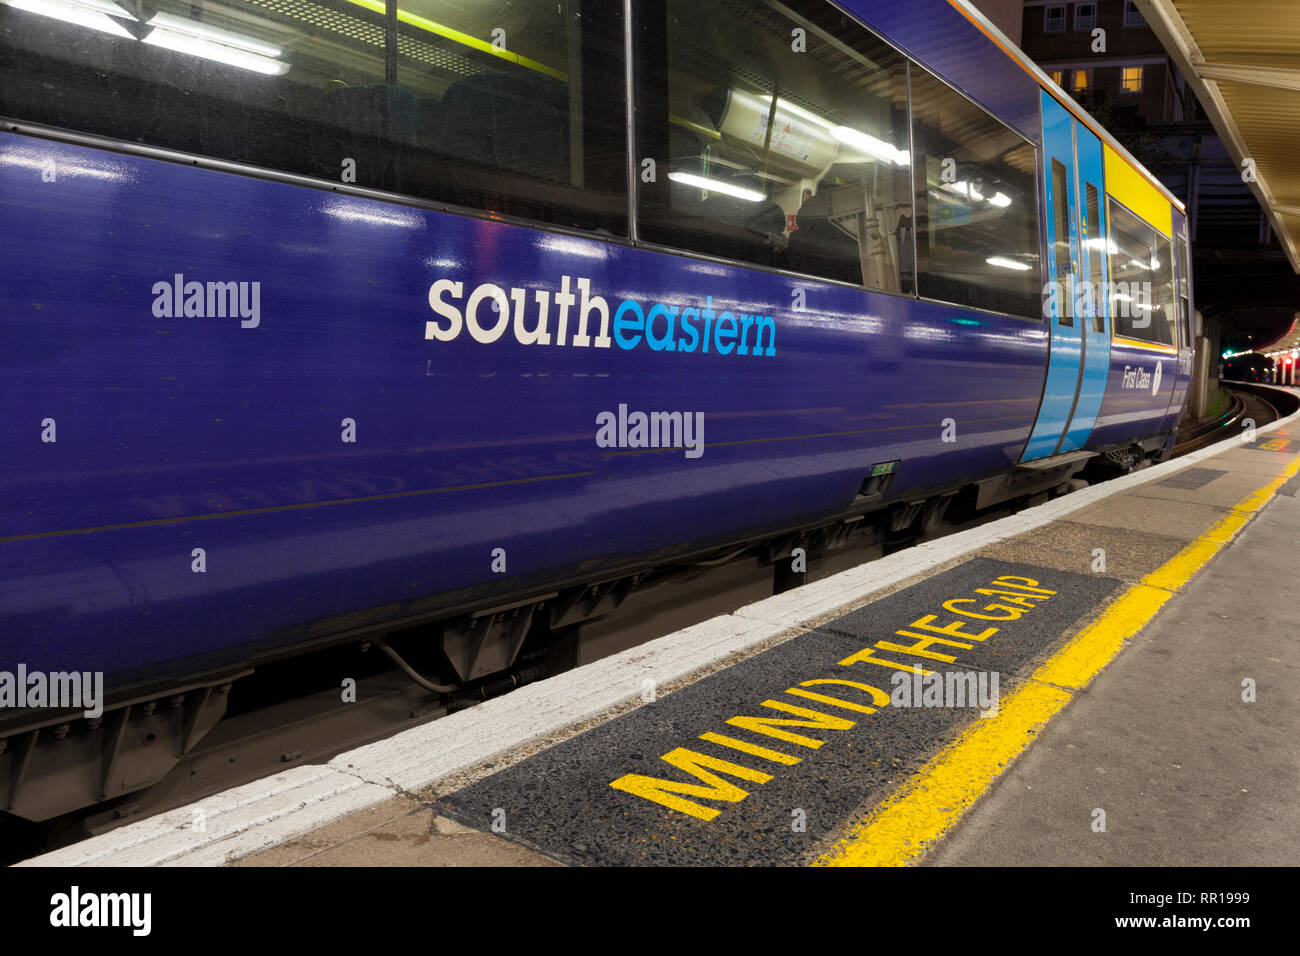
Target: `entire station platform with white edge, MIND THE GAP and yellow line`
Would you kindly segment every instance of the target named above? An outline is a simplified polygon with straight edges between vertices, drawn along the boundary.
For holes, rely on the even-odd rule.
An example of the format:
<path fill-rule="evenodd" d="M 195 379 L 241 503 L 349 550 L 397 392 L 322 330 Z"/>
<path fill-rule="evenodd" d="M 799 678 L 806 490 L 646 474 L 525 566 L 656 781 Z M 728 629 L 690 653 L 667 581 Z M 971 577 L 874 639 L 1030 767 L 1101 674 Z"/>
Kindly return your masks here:
<path fill-rule="evenodd" d="M 1297 421 L 26 865 L 1295 865 Z"/>

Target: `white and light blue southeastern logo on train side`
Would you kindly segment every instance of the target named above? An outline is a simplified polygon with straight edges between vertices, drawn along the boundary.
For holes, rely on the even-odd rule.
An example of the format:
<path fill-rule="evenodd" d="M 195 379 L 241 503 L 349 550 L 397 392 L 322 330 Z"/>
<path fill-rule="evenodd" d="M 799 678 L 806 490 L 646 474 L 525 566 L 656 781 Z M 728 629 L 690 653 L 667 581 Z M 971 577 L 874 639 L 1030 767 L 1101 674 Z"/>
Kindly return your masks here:
<path fill-rule="evenodd" d="M 429 286 L 429 308 L 438 319 L 425 323 L 424 337 L 439 342 L 451 342 L 468 330 L 476 342 L 490 345 L 512 329 L 520 345 L 580 349 L 618 345 L 630 350 L 645 342 L 653 351 L 776 355 L 776 323 L 770 315 L 715 308 L 712 295 L 705 297 L 702 308 L 679 308 L 662 302 L 644 307 L 636 299 L 624 299 L 611 310 L 604 297 L 592 294 L 592 280 L 573 280 L 571 276 L 560 277 L 559 291 L 536 287 L 506 290 L 484 282 L 468 295 L 464 282 L 439 278 Z M 571 311 L 577 325 L 572 336 Z M 594 337 L 590 334 L 593 330 L 597 333 Z"/>

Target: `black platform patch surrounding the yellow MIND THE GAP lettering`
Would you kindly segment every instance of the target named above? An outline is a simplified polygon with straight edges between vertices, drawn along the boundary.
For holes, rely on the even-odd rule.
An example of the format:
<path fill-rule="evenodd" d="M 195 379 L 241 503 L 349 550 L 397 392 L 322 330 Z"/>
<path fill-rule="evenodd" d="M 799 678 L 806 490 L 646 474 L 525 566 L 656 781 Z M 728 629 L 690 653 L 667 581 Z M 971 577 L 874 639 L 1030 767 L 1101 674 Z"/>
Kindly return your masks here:
<path fill-rule="evenodd" d="M 1010 675 L 1098 607 L 1118 585 L 1109 578 L 972 558 L 465 787 L 441 800 L 439 812 L 571 864 L 801 864 L 824 840 L 838 836 L 859 808 L 887 796 L 959 727 L 978 719 L 978 710 L 885 706 L 868 715 L 784 691 L 814 678 L 841 678 L 889 693 L 890 670 L 838 662 L 878 640 L 910 643 L 893 632 L 923 614 L 939 615 L 939 623 L 952 620 L 954 615 L 944 611 L 944 601 L 976 597 L 975 588 L 988 587 L 1000 575 L 1032 578 L 1058 593 L 1019 620 L 1005 622 L 1002 630 L 970 650 L 940 648 L 957 657 L 954 663 L 924 663 L 940 672 L 997 671 L 1004 696 L 1011 689 Z M 978 630 L 974 626 L 983 622 L 968 623 Z M 862 692 L 845 687 L 809 689 L 864 700 Z M 845 730 L 783 728 L 824 740 L 816 749 L 725 723 L 737 715 L 796 717 L 760 706 L 770 698 L 855 723 Z M 710 731 L 802 760 L 785 766 L 699 739 Z M 757 783 L 724 777 L 748 792 L 737 803 L 686 797 L 719 809 L 712 819 L 698 819 L 610 786 L 624 774 L 698 786 L 701 780 L 660 760 L 676 748 L 762 770 L 772 779 Z M 802 812 L 803 831 L 793 826 L 796 810 Z"/>

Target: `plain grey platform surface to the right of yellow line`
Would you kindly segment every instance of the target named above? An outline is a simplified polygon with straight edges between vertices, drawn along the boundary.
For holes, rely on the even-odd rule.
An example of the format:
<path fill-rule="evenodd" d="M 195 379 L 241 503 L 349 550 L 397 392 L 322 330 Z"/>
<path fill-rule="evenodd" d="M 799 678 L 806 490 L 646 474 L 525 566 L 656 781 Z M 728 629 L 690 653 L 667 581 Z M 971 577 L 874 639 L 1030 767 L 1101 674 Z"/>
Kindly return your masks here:
<path fill-rule="evenodd" d="M 1297 546 L 1300 499 L 1278 496 L 932 862 L 1300 862 Z"/>

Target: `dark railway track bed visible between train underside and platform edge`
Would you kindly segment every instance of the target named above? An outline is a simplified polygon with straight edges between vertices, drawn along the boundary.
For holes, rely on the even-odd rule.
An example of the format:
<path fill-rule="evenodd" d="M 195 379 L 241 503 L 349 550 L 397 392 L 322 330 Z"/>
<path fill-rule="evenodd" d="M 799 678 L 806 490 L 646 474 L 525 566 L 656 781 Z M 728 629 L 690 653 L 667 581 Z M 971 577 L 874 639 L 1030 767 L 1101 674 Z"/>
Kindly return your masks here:
<path fill-rule="evenodd" d="M 1183 455 L 1240 432 L 1253 418 L 1264 425 L 1279 416 L 1273 402 L 1257 393 L 1235 390 L 1228 408 L 1196 425 L 1175 446 Z M 810 557 L 807 581 L 819 580 L 922 541 L 997 520 L 1046 499 L 1027 496 L 983 511 L 956 507 L 930 532 L 890 535 L 862 523 L 826 553 Z M 582 627 L 571 640 L 521 657 L 504 678 L 478 682 L 452 695 L 436 693 L 411 680 L 373 645 L 358 644 L 294 658 L 260 670 L 256 684 L 237 683 L 231 710 L 160 783 L 100 804 L 90 810 L 31 823 L 0 814 L 0 864 L 75 843 L 87 836 L 144 819 L 250 783 L 291 766 L 318 763 L 338 753 L 438 719 L 515 685 L 589 663 L 676 630 L 762 600 L 774 592 L 770 559 L 760 549 L 728 555 L 716 567 L 702 564 L 645 587 L 619 613 Z M 406 649 L 403 649 L 406 653 Z M 356 680 L 355 704 L 341 706 L 339 678 Z M 254 679 L 250 678 L 250 682 Z M 266 688 L 290 683 L 296 695 L 266 696 Z M 242 696 L 235 702 L 234 695 Z"/>

